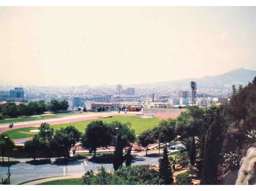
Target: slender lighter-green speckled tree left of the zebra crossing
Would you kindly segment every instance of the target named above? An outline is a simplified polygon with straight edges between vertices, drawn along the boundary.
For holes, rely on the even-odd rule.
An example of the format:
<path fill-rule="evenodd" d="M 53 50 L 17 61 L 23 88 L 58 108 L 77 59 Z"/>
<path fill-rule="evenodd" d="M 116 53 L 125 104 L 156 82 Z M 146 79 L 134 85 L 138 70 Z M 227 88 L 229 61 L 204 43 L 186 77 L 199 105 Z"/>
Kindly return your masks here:
<path fill-rule="evenodd" d="M 37 134 L 41 147 L 44 154 L 49 154 L 49 159 L 51 159 L 51 143 L 53 141 L 53 128 L 50 127 L 48 123 L 42 123 L 38 128 L 39 133 Z"/>

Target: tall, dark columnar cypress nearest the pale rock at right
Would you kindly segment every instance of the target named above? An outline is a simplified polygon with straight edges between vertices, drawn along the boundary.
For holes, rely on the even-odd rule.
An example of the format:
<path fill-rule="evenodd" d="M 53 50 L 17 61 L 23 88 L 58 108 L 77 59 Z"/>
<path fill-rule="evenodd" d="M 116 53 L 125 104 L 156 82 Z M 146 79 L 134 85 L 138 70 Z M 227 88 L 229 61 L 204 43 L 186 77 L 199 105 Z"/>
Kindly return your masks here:
<path fill-rule="evenodd" d="M 211 112 L 210 120 L 213 122 L 206 134 L 203 154 L 202 184 L 204 185 L 214 185 L 216 183 L 223 134 L 227 128 L 221 108 L 216 107 L 215 110 L 212 108 Z"/>

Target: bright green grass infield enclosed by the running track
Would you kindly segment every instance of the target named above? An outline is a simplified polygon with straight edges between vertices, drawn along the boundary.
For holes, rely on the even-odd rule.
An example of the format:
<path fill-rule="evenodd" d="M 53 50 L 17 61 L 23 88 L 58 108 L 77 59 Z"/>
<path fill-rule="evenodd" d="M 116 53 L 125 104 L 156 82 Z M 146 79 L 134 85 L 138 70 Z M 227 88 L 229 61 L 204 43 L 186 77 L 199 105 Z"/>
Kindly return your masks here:
<path fill-rule="evenodd" d="M 65 124 L 58 124 L 58 125 L 51 125 L 51 127 L 56 129 L 60 129 L 61 127 L 67 127 L 68 125 L 73 125 L 82 133 L 85 132 L 85 128 L 87 125 L 95 120 L 102 120 L 103 122 L 111 123 L 113 121 L 121 121 L 122 123 L 130 122 L 132 124 L 132 129 L 135 130 L 135 134 L 140 134 L 144 130 L 152 129 L 159 124 L 158 118 L 138 118 L 136 116 L 113 116 L 112 118 L 98 118 L 98 119 L 91 119 L 87 121 L 79 121 L 79 122 L 72 122 L 72 123 L 65 123 Z M 5 131 L 4 133 L 7 134 L 11 139 L 22 139 L 33 137 L 33 134 L 25 134 L 20 133 L 22 132 L 29 132 L 30 130 L 38 129 L 37 127 L 25 127 L 19 129 L 13 129 L 9 131 Z"/>

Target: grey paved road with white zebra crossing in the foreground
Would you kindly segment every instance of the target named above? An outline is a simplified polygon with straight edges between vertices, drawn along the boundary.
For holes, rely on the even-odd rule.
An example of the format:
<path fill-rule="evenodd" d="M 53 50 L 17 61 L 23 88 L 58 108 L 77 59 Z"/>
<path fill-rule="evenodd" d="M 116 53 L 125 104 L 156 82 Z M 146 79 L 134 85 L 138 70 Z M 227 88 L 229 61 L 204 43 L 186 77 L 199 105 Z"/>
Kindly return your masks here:
<path fill-rule="evenodd" d="M 158 165 L 158 158 L 160 155 L 150 156 L 150 157 L 133 157 L 132 165 L 145 165 L 152 164 Z M 7 162 L 6 162 L 7 164 Z M 33 165 L 30 162 L 26 163 L 16 163 L 12 164 L 10 167 L 11 173 L 11 184 L 17 185 L 28 180 L 39 179 L 43 177 L 52 176 L 67 176 L 75 174 L 84 174 L 88 170 L 97 171 L 97 167 L 101 164 L 107 169 L 111 170 L 113 168 L 112 162 L 93 162 L 90 160 L 77 160 L 69 161 L 67 164 L 63 162 L 53 162 L 46 164 Z M 125 164 L 124 164 L 125 166 Z M 8 172 L 8 167 L 0 166 L 0 179 L 6 178 L 6 173 Z"/>

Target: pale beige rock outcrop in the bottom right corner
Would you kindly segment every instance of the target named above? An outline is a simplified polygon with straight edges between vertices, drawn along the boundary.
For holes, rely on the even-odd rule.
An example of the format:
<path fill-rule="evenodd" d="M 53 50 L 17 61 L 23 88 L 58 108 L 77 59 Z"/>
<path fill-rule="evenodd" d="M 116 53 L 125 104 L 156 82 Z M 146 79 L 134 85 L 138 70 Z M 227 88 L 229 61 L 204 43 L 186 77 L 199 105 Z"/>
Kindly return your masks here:
<path fill-rule="evenodd" d="M 236 185 L 256 185 L 256 148 L 248 149 L 238 171 Z"/>

